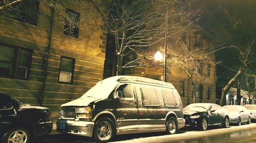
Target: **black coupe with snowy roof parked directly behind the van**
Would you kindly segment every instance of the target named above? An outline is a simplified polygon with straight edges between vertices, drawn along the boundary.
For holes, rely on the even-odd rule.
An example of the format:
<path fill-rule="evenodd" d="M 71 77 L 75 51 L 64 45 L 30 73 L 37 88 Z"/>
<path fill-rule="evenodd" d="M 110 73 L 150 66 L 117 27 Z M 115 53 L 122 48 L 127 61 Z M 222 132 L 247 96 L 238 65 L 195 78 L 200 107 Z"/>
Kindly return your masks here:
<path fill-rule="evenodd" d="M 228 110 L 213 103 L 189 104 L 183 109 L 185 126 L 207 130 L 208 126 L 229 127 Z"/>

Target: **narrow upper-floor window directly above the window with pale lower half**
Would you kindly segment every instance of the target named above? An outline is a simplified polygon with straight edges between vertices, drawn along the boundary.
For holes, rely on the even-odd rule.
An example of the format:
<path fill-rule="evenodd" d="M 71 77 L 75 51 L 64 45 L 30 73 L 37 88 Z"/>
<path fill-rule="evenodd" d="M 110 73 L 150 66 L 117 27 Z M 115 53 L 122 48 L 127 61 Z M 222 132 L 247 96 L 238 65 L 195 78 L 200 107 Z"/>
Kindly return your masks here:
<path fill-rule="evenodd" d="M 67 9 L 63 33 L 68 36 L 78 38 L 79 33 L 79 13 Z"/>

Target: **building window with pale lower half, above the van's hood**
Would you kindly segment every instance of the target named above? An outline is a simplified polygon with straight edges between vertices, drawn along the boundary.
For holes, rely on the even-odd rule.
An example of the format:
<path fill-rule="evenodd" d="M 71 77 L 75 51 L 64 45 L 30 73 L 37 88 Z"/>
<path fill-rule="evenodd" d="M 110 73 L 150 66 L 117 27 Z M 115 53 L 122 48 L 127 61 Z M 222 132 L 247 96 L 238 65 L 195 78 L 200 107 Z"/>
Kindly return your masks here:
<path fill-rule="evenodd" d="M 61 56 L 59 69 L 60 83 L 73 83 L 75 59 Z"/>

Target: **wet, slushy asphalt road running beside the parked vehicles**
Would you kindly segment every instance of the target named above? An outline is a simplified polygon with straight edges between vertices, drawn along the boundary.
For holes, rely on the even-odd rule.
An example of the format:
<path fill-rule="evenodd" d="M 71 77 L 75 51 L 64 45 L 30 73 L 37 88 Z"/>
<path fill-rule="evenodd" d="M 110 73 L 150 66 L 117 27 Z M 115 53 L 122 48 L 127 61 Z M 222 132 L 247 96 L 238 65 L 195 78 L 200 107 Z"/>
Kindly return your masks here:
<path fill-rule="evenodd" d="M 86 143 L 93 142 L 89 137 L 81 137 L 57 133 L 55 130 L 48 135 L 36 138 L 35 143 Z M 222 128 L 221 126 L 209 127 L 206 131 L 191 130 L 183 128 L 178 130 L 176 134 L 166 135 L 164 132 L 141 133 L 129 135 L 116 135 L 113 142 L 256 142 L 256 123 L 250 125 L 242 124 L 241 126 L 230 126 Z"/>

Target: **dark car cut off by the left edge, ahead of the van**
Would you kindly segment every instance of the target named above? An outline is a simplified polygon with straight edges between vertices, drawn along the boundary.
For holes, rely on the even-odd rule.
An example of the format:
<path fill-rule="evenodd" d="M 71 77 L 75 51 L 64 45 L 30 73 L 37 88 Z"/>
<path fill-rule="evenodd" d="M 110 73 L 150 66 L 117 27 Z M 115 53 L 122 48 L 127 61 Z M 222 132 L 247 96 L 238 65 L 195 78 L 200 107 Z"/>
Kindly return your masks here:
<path fill-rule="evenodd" d="M 23 104 L 0 93 L 0 141 L 29 143 L 33 137 L 49 134 L 52 122 L 48 108 Z"/>

